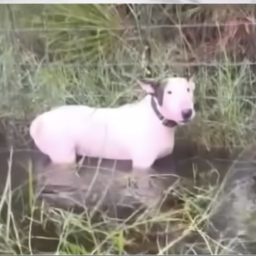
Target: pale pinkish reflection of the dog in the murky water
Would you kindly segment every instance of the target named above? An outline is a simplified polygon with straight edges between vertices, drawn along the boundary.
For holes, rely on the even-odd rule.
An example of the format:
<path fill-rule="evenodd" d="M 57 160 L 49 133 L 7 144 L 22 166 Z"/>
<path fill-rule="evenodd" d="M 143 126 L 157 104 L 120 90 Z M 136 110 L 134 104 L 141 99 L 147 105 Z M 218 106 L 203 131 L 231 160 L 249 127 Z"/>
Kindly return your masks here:
<path fill-rule="evenodd" d="M 131 174 L 131 161 L 85 158 L 75 166 L 57 166 L 48 161 L 37 161 L 35 178 L 37 195 L 51 205 L 89 209 L 99 207 L 109 212 L 131 212 L 140 206 L 149 206 L 161 200 L 163 191 L 177 180 L 172 166 L 161 170 L 168 178 L 159 177 L 159 171 L 150 170 L 147 191 L 141 191 Z M 146 194 L 146 196 L 145 196 Z M 118 214 L 119 215 L 119 214 Z M 123 214 L 122 214 L 123 215 Z M 126 215 L 126 214 L 125 214 Z"/>

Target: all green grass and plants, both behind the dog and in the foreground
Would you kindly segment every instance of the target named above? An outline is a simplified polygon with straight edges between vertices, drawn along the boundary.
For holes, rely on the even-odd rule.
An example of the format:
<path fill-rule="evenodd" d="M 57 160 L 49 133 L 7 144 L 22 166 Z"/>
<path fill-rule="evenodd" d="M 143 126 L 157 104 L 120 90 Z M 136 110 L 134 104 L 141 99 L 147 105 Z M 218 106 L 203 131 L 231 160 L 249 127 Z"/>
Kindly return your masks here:
<path fill-rule="evenodd" d="M 207 149 L 234 150 L 255 142 L 254 5 L 2 5 L 0 12 L 3 123 L 6 116 L 29 121 L 66 103 L 118 106 L 140 97 L 138 77 L 190 73 L 199 111 L 180 136 Z M 194 188 L 192 197 L 185 187 L 179 188 L 185 203 L 164 213 L 144 212 L 132 224 L 103 213 L 92 221 L 87 212 L 82 218 L 30 204 L 23 216 L 28 237 L 11 214 L 6 188 L 0 211 L 7 203 L 9 217 L 1 225 L 0 251 L 32 253 L 36 220 L 41 227 L 53 223 L 57 247 L 52 250 L 59 254 L 183 254 L 196 250 L 198 243 L 180 244 L 194 233 L 203 241 L 197 250 L 223 253 L 220 242 L 204 232 L 219 184 Z"/>

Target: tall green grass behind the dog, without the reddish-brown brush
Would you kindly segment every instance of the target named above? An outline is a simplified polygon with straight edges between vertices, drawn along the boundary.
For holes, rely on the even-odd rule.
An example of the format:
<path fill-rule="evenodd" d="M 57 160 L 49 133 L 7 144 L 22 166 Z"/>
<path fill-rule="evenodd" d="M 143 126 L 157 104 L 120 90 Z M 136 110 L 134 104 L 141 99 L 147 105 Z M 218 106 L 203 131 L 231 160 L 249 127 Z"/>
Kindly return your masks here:
<path fill-rule="evenodd" d="M 35 51 L 26 44 L 7 42 L 6 34 L 2 35 L 2 41 L 5 41 L 5 48 L 1 53 L 4 72 L 0 78 L 3 114 L 11 111 L 21 116 L 24 113 L 20 111 L 26 110 L 26 115 L 34 116 L 47 108 L 64 103 L 118 106 L 140 97 L 139 87 L 135 83 L 138 77 L 163 78 L 185 73 L 189 63 L 178 62 L 179 57 L 186 53 L 180 45 L 179 36 L 170 43 L 158 42 L 153 38 L 150 42 L 150 54 L 145 55 L 146 46 L 141 49 L 141 42 L 145 41 L 143 38 L 138 37 L 137 44 L 118 41 L 123 17 L 120 17 L 116 10 L 113 11 L 114 7 L 113 5 L 42 6 L 41 16 L 35 12 L 34 18 L 43 17 L 44 20 L 31 19 L 29 24 L 34 26 L 33 31 L 39 31 L 40 37 L 46 38 L 42 42 L 45 43 L 48 51 L 45 50 L 46 55 L 43 59 L 38 59 Z M 13 11 L 12 15 L 10 12 L 7 13 L 9 15 L 3 15 L 7 16 L 4 26 L 10 28 L 7 38 L 13 41 L 13 37 L 18 36 L 18 32 L 22 34 L 22 26 L 28 26 L 28 19 L 19 18 L 18 11 Z M 12 18 L 14 16 L 15 20 Z M 138 17 L 136 19 L 138 23 L 140 20 Z M 96 33 L 99 27 L 102 36 L 81 34 L 79 31 L 79 29 L 87 31 L 87 28 L 90 28 Z M 130 37 L 134 38 L 135 34 L 138 34 L 136 29 Z M 130 37 L 126 38 L 127 42 Z M 34 35 L 31 38 L 34 38 Z M 50 41 L 55 42 L 53 48 L 51 43 L 49 44 Z M 107 54 L 110 50 L 106 43 L 110 41 L 119 42 L 118 47 L 111 46 L 110 50 L 114 54 L 111 57 Z M 97 52 L 99 53 L 97 45 L 100 44 L 102 51 L 97 55 L 97 60 L 94 57 L 89 58 L 89 55 L 87 55 L 89 59 L 81 55 L 80 46 L 74 46 L 75 52 L 67 51 L 73 49 L 69 44 L 78 42 L 82 48 L 85 47 L 83 54 L 95 56 Z M 87 46 L 90 46 L 91 50 L 87 49 Z M 57 54 L 58 58 L 57 55 L 52 54 L 56 52 L 55 47 L 63 53 Z M 70 56 L 74 59 L 70 59 Z M 52 60 L 46 61 L 46 57 L 51 57 Z M 147 70 L 148 67 L 150 72 Z M 209 63 L 193 72 L 196 72 L 195 96 L 200 111 L 194 124 L 186 127 L 183 134 L 187 134 L 187 137 L 207 148 L 244 147 L 252 143 L 255 124 L 253 85 L 255 74 L 251 66 L 246 62 L 242 66 L 236 66 L 236 63 L 226 57 L 217 65 Z M 9 104 L 10 100 L 13 102 L 12 105 Z M 18 106 L 19 104 L 22 106 Z"/>

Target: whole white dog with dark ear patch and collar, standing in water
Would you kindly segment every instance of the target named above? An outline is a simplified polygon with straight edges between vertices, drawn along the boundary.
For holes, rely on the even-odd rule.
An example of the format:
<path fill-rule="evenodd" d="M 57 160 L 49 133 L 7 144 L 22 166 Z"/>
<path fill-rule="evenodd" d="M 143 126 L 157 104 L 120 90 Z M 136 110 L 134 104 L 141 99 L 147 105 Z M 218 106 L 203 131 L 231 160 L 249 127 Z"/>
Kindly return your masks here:
<path fill-rule="evenodd" d="M 195 116 L 192 79 L 138 81 L 147 95 L 116 108 L 61 106 L 37 116 L 30 126 L 36 146 L 55 164 L 76 155 L 131 159 L 133 170 L 147 170 L 172 153 L 177 125 Z"/>

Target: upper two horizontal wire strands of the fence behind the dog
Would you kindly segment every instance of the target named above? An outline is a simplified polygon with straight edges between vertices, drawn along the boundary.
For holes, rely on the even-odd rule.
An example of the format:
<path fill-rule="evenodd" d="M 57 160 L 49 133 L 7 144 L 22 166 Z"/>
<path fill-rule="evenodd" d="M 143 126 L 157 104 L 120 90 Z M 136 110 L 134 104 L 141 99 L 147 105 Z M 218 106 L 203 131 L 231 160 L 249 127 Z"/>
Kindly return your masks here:
<path fill-rule="evenodd" d="M 256 25 L 256 22 L 237 22 L 237 23 L 180 23 L 180 24 L 175 24 L 175 25 L 170 25 L 170 24 L 162 24 L 162 25 L 134 25 L 134 26 L 131 26 L 131 25 L 127 25 L 127 26 L 120 26 L 120 27 L 101 27 L 101 26 L 85 26 L 83 28 L 77 28 L 77 27 L 60 27 L 60 28 L 38 28 L 38 27 L 33 27 L 33 28 L 29 28 L 29 27 L 26 27 L 26 28 L 13 28 L 13 31 L 15 31 L 14 33 L 26 33 L 26 32 L 33 32 L 33 33 L 38 33 L 40 34 L 41 32 L 54 32 L 54 31 L 64 31 L 65 33 L 69 33 L 70 31 L 70 34 L 74 34 L 74 33 L 79 33 L 79 31 L 83 32 L 83 31 L 86 31 L 86 30 L 98 30 L 98 31 L 107 31 L 107 30 L 135 30 L 135 31 L 140 31 L 141 30 L 152 30 L 152 29 L 172 29 L 172 28 L 178 28 L 178 29 L 183 29 L 183 28 L 204 28 L 204 29 L 207 29 L 207 28 L 211 28 L 211 27 L 215 27 L 215 28 L 225 28 L 225 27 L 238 27 L 240 25 L 243 25 L 244 27 L 247 27 L 247 26 L 255 26 Z M 246 28 L 247 29 L 247 28 Z M 6 32 L 6 31 L 9 31 L 9 29 L 6 29 L 6 28 L 0 28 L 0 32 Z M 256 27 L 255 27 L 255 32 L 256 32 Z M 183 34 L 182 34 L 182 31 L 180 33 L 180 41 L 183 43 L 185 42 L 186 43 L 186 39 L 183 38 Z M 203 36 L 202 36 L 203 38 Z M 222 39 L 221 38 L 221 35 L 219 35 L 219 38 L 217 39 Z M 134 36 L 134 38 L 130 37 L 130 38 L 127 38 L 127 41 L 140 41 L 141 39 L 139 38 L 139 36 Z M 144 44 L 142 42 L 142 44 Z M 188 43 L 189 45 L 189 43 Z M 256 50 L 256 49 L 255 49 Z M 183 52 L 186 52 L 187 50 L 186 49 L 183 49 L 182 50 Z M 46 53 L 47 54 L 51 54 L 52 52 L 47 52 L 46 50 Z M 53 52 L 54 54 L 54 52 Z M 186 53 L 185 53 L 186 55 Z M 199 67 L 199 66 L 203 66 L 203 67 L 219 67 L 219 66 L 227 66 L 227 67 L 241 67 L 241 66 L 244 66 L 244 65 L 247 65 L 247 66 L 255 66 L 256 65 L 256 61 L 250 61 L 250 60 L 243 60 L 243 61 L 231 61 L 231 60 L 227 60 L 227 61 L 217 61 L 217 60 L 211 60 L 211 61 L 201 61 L 201 60 L 198 60 L 197 61 L 197 56 L 196 54 L 193 56 L 193 52 L 191 53 L 190 57 L 194 58 L 194 61 L 171 61 L 170 63 L 150 63 L 150 66 L 151 67 L 156 67 L 156 66 L 159 66 L 159 67 Z M 86 61 L 86 63 L 62 63 L 63 65 L 65 65 L 66 68 L 79 68 L 79 67 L 96 67 L 96 66 L 102 66 L 102 67 L 116 67 L 116 66 L 139 66 L 140 65 L 140 62 L 141 62 L 141 59 L 134 59 L 133 61 L 131 62 L 121 62 L 121 61 L 114 61 L 114 60 L 111 60 L 110 61 L 107 61 L 107 63 L 105 62 L 90 62 L 90 61 Z M 54 66 L 57 66 L 59 67 L 60 65 L 60 62 L 59 61 L 54 61 L 54 62 L 48 62 L 48 63 L 39 63 L 40 66 L 44 67 L 44 66 L 51 66 L 51 67 L 54 67 Z M 22 63 L 22 66 L 23 67 L 29 67 L 31 66 L 31 64 L 26 64 L 26 63 Z"/>

